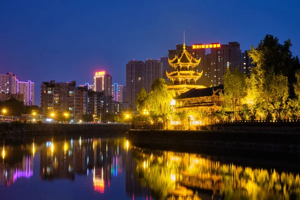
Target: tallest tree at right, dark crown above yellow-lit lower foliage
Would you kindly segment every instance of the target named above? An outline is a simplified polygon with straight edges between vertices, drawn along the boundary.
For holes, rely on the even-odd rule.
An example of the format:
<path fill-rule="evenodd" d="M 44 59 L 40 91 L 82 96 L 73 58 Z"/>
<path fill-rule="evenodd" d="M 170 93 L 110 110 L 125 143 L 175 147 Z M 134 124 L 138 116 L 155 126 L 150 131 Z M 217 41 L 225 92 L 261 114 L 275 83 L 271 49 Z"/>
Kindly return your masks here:
<path fill-rule="evenodd" d="M 257 48 L 251 46 L 248 52 L 256 67 L 247 80 L 247 102 L 259 105 L 266 116 L 272 114 L 281 119 L 287 109 L 288 96 L 294 96 L 293 77 L 297 67 L 294 60 L 297 58 L 291 57 L 290 46 L 289 39 L 280 44 L 276 37 L 266 35 Z"/>

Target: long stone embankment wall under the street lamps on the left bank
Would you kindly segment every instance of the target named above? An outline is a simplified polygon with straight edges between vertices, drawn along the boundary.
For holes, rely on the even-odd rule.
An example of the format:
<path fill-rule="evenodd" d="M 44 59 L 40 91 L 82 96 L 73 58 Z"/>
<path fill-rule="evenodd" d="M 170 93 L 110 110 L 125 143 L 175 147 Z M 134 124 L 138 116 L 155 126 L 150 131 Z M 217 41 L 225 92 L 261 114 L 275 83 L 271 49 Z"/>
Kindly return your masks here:
<path fill-rule="evenodd" d="M 124 136 L 130 124 L 60 124 L 60 123 L 0 123 L 0 136 L 98 134 Z"/>

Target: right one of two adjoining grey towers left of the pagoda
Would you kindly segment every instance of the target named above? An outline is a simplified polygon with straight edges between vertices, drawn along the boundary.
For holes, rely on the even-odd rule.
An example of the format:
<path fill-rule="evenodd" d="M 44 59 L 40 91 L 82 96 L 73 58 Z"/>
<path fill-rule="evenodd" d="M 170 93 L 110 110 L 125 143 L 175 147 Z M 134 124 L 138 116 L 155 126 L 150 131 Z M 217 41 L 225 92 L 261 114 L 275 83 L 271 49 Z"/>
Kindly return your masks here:
<path fill-rule="evenodd" d="M 159 60 L 147 59 L 144 65 L 144 81 L 143 87 L 145 91 L 148 93 L 151 91 L 152 82 L 156 78 L 162 78 L 162 68 L 163 64 Z"/>

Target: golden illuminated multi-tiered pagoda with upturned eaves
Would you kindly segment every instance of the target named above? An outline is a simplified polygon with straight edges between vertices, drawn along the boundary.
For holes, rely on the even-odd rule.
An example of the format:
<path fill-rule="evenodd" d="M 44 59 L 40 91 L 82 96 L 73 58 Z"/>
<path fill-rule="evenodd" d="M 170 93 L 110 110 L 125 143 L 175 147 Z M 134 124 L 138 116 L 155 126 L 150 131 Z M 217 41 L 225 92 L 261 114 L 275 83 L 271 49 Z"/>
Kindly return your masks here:
<path fill-rule="evenodd" d="M 196 85 L 196 81 L 201 77 L 202 72 L 194 71 L 194 67 L 200 63 L 200 58 L 194 58 L 186 49 L 183 43 L 183 50 L 173 59 L 168 58 L 168 63 L 174 71 L 165 72 L 166 76 L 172 80 L 169 89 L 174 89 L 176 94 L 188 91 L 192 88 L 205 88 L 203 85 Z"/>

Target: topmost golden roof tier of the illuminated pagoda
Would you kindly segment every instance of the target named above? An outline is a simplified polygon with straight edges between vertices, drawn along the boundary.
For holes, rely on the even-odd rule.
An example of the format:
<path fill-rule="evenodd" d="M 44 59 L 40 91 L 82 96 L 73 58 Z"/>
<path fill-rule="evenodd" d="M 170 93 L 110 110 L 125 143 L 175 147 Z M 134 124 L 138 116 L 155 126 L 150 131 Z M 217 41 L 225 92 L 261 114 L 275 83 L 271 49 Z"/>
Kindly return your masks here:
<path fill-rule="evenodd" d="M 183 43 L 183 50 L 179 52 L 173 59 L 168 58 L 168 63 L 175 67 L 178 65 L 190 65 L 196 66 L 200 63 L 200 58 L 194 58 L 186 49 L 185 44 Z"/>

